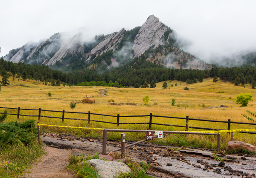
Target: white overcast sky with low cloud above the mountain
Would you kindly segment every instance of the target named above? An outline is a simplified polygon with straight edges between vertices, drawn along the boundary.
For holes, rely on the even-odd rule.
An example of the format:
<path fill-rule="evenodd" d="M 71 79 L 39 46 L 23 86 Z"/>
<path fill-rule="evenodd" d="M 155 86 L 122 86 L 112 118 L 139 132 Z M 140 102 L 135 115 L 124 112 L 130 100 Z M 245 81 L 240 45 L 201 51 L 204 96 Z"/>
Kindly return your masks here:
<path fill-rule="evenodd" d="M 0 56 L 81 27 L 87 40 L 133 29 L 154 14 L 191 43 L 187 51 L 207 61 L 256 50 L 255 7 L 255 0 L 2 0 Z"/>

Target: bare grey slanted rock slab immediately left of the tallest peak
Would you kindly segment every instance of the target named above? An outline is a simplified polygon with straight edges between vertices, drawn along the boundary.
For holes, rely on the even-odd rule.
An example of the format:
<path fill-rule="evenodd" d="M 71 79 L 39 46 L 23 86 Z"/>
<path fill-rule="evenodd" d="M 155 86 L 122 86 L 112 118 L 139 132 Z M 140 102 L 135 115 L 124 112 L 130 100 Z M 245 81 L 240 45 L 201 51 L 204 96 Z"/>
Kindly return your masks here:
<path fill-rule="evenodd" d="M 118 47 L 118 43 L 122 40 L 122 34 L 124 31 L 125 29 L 122 28 L 118 33 L 113 33 L 106 37 L 105 40 L 103 40 L 101 43 L 95 46 L 95 48 L 92 49 L 90 52 L 90 57 L 87 60 L 90 60 L 93 55 L 102 55 L 103 52 L 108 52 L 111 49 L 115 51 Z"/>

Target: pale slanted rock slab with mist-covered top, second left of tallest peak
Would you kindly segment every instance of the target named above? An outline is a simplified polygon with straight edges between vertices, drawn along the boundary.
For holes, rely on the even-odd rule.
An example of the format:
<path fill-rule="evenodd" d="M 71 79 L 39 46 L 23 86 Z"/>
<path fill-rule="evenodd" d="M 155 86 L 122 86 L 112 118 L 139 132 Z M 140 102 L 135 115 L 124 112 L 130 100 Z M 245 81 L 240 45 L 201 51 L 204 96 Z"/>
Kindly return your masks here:
<path fill-rule="evenodd" d="M 68 40 L 67 43 L 64 43 L 64 45 L 61 46 L 58 52 L 56 52 L 55 55 L 53 55 L 53 57 L 48 62 L 44 61 L 44 64 L 53 65 L 56 63 L 56 61 L 61 60 L 61 58 L 65 57 L 68 53 L 74 52 L 77 46 L 81 47 L 82 36 L 83 36 L 82 32 L 79 32 L 78 34 L 76 34 L 74 37 Z"/>

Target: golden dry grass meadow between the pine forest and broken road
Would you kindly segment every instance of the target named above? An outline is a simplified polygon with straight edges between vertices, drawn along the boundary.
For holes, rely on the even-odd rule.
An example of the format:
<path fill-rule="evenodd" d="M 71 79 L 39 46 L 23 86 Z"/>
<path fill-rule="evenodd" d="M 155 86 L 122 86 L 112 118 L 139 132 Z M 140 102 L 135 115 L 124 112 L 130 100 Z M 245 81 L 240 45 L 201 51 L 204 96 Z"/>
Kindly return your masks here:
<path fill-rule="evenodd" d="M 25 109 L 49 109 L 74 112 L 93 112 L 108 115 L 166 115 L 174 117 L 199 118 L 208 120 L 219 120 L 238 122 L 249 122 L 241 116 L 241 113 L 246 114 L 246 109 L 256 111 L 256 89 L 252 89 L 248 84 L 243 86 L 234 86 L 229 82 L 217 83 L 212 82 L 212 78 L 204 79 L 203 83 L 195 83 L 187 85 L 185 82 L 172 81 L 168 82 L 170 89 L 162 89 L 163 82 L 157 83 L 156 89 L 151 88 L 112 88 L 112 87 L 99 87 L 99 86 L 45 86 L 43 83 L 34 84 L 35 80 L 22 81 L 15 78 L 11 80 L 9 86 L 2 86 L 0 92 L 0 106 L 2 107 L 20 107 Z M 175 86 L 177 83 L 177 86 Z M 23 85 L 23 86 L 20 86 Z M 173 86 L 171 86 L 173 84 Z M 184 86 L 189 87 L 189 91 L 183 90 Z M 101 96 L 99 90 L 106 89 L 108 96 Z M 49 97 L 47 93 L 52 93 Z M 240 92 L 252 93 L 253 100 L 249 102 L 247 107 L 239 107 L 235 103 L 236 95 Z M 144 106 L 143 98 L 149 96 L 149 106 Z M 76 105 L 75 109 L 71 109 L 69 104 L 71 101 L 79 101 L 83 98 L 94 96 L 96 104 L 82 104 Z M 231 99 L 230 99 L 231 97 Z M 176 105 L 171 106 L 172 98 L 176 98 Z M 113 99 L 115 103 L 136 103 L 137 106 L 113 106 L 109 105 L 108 100 Z M 157 103 L 157 104 L 154 104 Z M 229 108 L 216 108 L 205 109 L 205 107 L 216 107 L 221 104 L 230 106 Z M 233 107 L 231 107 L 233 106 Z M 3 112 L 4 109 L 0 109 Z M 7 109 L 8 112 L 17 113 L 17 110 Z M 36 111 L 20 111 L 20 114 L 38 115 Z M 61 113 L 41 112 L 41 115 L 61 117 Z M 81 114 L 65 114 L 67 118 L 84 118 L 87 115 Z M 38 120 L 37 117 L 29 118 L 20 116 L 19 121 L 28 119 Z M 116 122 L 116 118 L 91 115 L 91 119 L 102 121 Z M 16 121 L 16 116 L 9 115 L 7 121 Z M 120 118 L 120 122 L 148 122 L 149 117 L 142 118 Z M 185 120 L 169 119 L 169 118 L 155 118 L 152 122 L 155 123 L 168 123 L 174 125 L 185 125 Z M 67 126 L 90 126 L 100 128 L 116 128 L 114 124 L 91 122 L 88 125 L 87 121 L 65 120 L 64 123 L 61 119 L 41 118 L 41 123 L 54 124 L 54 125 L 67 125 Z M 227 129 L 227 123 L 214 123 L 204 121 L 189 121 L 189 126 L 208 127 L 216 129 Z M 255 126 L 231 124 L 231 129 L 254 129 Z M 119 125 L 119 129 L 148 129 L 148 125 Z M 181 127 L 158 126 L 152 125 L 155 130 L 184 130 Z M 102 137 L 102 131 L 97 130 L 81 130 L 81 129 L 64 129 L 56 127 L 43 126 L 42 131 L 47 132 L 67 132 L 80 136 Z M 189 129 L 196 130 L 196 129 Z M 199 130 L 198 130 L 199 131 Z M 140 133 L 127 133 L 125 134 L 127 140 L 141 140 L 145 139 L 145 134 Z M 108 133 L 108 138 L 119 139 L 119 133 Z M 256 135 L 235 133 L 235 139 L 256 145 Z M 230 138 L 226 133 L 221 134 L 221 149 L 225 149 L 227 142 Z M 187 145 L 196 147 L 216 148 L 217 138 L 214 136 L 198 136 L 198 135 L 168 135 L 163 139 L 156 139 L 154 142 L 162 144 L 176 144 Z"/>

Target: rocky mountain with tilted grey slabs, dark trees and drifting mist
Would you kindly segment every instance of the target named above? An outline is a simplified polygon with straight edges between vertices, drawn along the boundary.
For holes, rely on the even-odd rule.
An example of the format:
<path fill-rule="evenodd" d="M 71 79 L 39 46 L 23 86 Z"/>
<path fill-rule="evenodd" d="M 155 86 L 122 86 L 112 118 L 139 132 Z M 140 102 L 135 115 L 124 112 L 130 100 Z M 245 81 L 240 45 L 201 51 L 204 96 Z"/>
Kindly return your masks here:
<path fill-rule="evenodd" d="M 82 32 L 68 40 L 64 40 L 63 36 L 63 33 L 57 33 L 39 43 L 27 43 L 10 51 L 4 59 L 14 63 L 44 64 L 54 69 L 69 66 L 74 70 L 81 62 L 90 69 L 102 65 L 111 69 L 145 55 L 152 63 L 166 67 L 211 68 L 180 49 L 182 46 L 177 43 L 173 30 L 154 15 L 150 15 L 141 27 L 128 31 L 122 28 L 107 36 L 96 36 L 90 42 L 82 40 Z"/>

